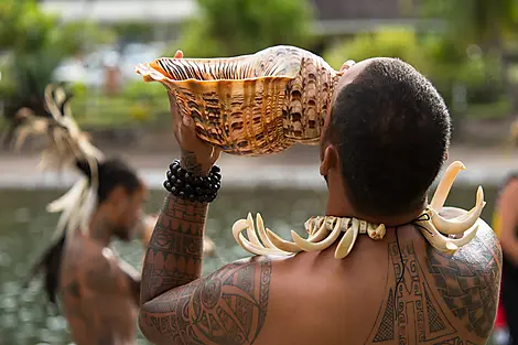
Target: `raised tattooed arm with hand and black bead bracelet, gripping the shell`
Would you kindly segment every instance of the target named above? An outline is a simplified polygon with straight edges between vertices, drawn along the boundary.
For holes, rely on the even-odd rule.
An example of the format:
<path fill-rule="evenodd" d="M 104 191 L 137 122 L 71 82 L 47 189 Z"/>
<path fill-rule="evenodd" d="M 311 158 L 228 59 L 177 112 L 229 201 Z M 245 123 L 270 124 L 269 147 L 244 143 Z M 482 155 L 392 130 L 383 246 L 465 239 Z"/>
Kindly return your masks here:
<path fill-rule="evenodd" d="M 266 320 L 271 262 L 244 260 L 201 278 L 205 218 L 219 188 L 214 163 L 220 151 L 197 138 L 193 119 L 182 117 L 171 95 L 170 105 L 182 158 L 168 172 L 170 194 L 143 262 L 140 330 L 154 344 L 250 344 Z"/>

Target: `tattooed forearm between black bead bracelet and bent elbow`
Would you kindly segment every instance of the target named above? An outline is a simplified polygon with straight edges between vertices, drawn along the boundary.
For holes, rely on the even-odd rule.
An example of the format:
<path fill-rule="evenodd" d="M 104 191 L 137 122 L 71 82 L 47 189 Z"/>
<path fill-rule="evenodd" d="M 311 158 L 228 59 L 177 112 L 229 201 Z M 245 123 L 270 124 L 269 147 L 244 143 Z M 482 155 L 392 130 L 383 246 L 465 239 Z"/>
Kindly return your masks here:
<path fill-rule="evenodd" d="M 168 195 L 143 262 L 141 303 L 202 276 L 207 207 Z"/>

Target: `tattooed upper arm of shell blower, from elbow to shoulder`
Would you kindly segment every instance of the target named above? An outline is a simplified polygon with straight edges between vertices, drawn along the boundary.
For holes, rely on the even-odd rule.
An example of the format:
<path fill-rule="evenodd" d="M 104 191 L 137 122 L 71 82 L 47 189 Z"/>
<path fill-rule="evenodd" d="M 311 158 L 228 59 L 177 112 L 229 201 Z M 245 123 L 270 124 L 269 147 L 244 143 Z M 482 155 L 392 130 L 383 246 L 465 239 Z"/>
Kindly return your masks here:
<path fill-rule="evenodd" d="M 228 265 L 143 304 L 140 330 L 154 344 L 252 344 L 265 324 L 270 281 L 267 257 Z"/>

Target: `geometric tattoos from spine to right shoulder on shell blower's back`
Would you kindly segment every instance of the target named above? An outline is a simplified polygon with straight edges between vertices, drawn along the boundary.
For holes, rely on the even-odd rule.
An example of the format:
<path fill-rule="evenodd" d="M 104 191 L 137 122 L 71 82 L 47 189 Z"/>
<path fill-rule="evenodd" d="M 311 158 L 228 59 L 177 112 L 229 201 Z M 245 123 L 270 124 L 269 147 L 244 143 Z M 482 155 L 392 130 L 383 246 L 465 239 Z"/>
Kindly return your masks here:
<path fill-rule="evenodd" d="M 366 343 L 484 343 L 493 330 L 500 279 L 501 250 L 492 235 L 479 234 L 453 258 L 427 244 L 424 262 L 412 241 L 389 244 L 387 294 Z M 461 338 L 460 330 L 472 334 L 470 339 Z"/>

